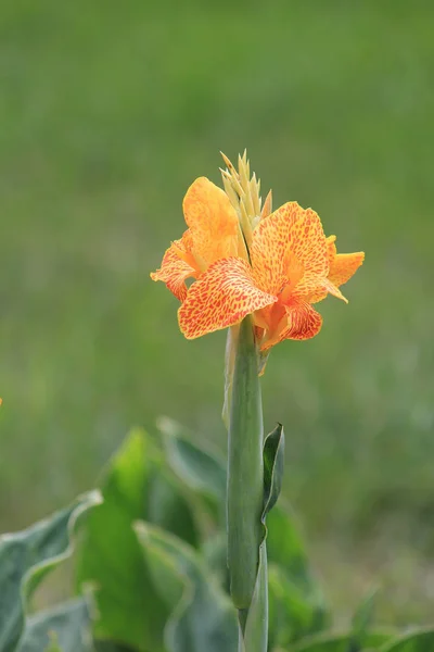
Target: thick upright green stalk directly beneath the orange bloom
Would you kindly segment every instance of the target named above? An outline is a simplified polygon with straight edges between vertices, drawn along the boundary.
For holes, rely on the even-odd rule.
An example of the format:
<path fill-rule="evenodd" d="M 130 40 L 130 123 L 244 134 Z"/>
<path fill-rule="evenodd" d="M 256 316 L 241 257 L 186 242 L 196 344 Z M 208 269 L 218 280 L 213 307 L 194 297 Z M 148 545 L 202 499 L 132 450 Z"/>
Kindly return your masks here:
<path fill-rule="evenodd" d="M 229 454 L 228 454 L 228 565 L 231 597 L 239 611 L 242 635 L 255 590 L 259 546 L 260 515 L 264 502 L 264 425 L 258 350 L 252 318 L 240 325 L 232 379 Z M 267 582 L 261 589 L 267 592 Z M 264 604 L 264 627 L 267 628 L 267 595 Z M 264 638 L 264 637 L 261 637 Z M 266 640 L 265 634 L 265 640 Z M 265 648 L 266 650 L 266 648 Z M 248 652 L 248 650 L 246 650 Z"/>

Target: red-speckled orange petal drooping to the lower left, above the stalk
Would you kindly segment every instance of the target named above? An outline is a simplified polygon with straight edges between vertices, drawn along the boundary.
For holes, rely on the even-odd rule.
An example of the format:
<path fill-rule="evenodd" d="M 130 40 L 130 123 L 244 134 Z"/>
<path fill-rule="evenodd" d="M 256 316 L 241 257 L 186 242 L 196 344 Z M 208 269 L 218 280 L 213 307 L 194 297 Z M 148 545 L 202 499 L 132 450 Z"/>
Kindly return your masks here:
<path fill-rule="evenodd" d="M 214 263 L 194 283 L 178 311 L 181 331 L 193 339 L 233 326 L 243 317 L 277 301 L 253 283 L 252 269 L 242 259 Z"/>

